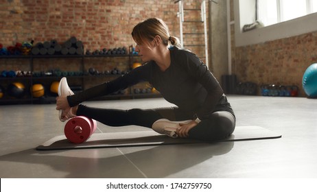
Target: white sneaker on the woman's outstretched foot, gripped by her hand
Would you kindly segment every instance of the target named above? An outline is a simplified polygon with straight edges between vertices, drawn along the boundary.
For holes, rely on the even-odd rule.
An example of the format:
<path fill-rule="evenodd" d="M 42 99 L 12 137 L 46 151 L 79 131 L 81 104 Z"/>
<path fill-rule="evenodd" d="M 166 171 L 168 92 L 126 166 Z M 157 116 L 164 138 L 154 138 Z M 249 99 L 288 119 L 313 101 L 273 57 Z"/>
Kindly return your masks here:
<path fill-rule="evenodd" d="M 66 77 L 62 77 L 62 79 L 60 80 L 60 84 L 58 84 L 58 96 L 69 96 L 69 95 L 73 95 L 73 91 L 71 91 L 71 88 L 69 88 L 68 84 L 67 84 L 67 79 Z M 71 119 L 72 117 L 75 117 L 76 115 L 73 115 L 71 113 L 71 110 L 69 110 L 69 112 L 67 112 L 67 114 L 64 115 L 64 117 L 62 117 L 62 112 L 63 110 L 60 110 L 58 117 L 60 118 L 60 121 L 64 122 L 67 119 Z"/>

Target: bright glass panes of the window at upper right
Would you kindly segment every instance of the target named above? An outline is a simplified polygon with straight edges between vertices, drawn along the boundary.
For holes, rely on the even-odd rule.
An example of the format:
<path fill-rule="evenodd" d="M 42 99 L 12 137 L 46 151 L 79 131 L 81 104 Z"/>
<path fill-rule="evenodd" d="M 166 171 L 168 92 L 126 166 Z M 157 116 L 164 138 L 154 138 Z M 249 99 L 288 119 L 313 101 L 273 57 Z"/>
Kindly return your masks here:
<path fill-rule="evenodd" d="M 317 0 L 257 0 L 257 19 L 264 26 L 317 12 Z"/>

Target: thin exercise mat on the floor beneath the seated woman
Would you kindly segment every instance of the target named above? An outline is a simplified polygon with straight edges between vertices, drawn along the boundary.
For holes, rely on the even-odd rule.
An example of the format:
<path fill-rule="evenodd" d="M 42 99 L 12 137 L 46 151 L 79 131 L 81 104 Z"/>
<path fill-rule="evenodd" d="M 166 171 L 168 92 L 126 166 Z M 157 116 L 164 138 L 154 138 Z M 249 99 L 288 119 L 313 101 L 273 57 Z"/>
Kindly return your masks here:
<path fill-rule="evenodd" d="M 257 139 L 277 139 L 277 134 L 259 126 L 237 126 L 235 132 L 222 141 L 248 141 Z M 135 147 L 147 145 L 179 145 L 189 143 L 207 143 L 192 139 L 173 139 L 169 136 L 158 134 L 152 130 L 142 132 L 109 132 L 95 133 L 87 141 L 80 144 L 69 142 L 64 135 L 56 136 L 42 145 L 37 150 L 61 150 L 61 149 L 87 149 L 103 147 Z"/>

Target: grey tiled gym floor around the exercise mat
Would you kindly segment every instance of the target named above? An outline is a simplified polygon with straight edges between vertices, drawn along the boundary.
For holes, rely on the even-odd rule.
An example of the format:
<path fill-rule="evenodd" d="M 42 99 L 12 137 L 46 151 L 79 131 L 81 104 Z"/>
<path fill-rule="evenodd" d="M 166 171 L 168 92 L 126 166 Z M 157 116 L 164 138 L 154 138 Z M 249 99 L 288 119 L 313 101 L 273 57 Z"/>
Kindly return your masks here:
<path fill-rule="evenodd" d="M 257 125 L 281 139 L 213 144 L 36 151 L 63 134 L 54 104 L 0 106 L 1 178 L 316 178 L 317 100 L 229 95 L 237 125 Z M 167 101 L 90 101 L 107 108 L 156 108 Z M 148 130 L 137 126 L 97 132 Z"/>

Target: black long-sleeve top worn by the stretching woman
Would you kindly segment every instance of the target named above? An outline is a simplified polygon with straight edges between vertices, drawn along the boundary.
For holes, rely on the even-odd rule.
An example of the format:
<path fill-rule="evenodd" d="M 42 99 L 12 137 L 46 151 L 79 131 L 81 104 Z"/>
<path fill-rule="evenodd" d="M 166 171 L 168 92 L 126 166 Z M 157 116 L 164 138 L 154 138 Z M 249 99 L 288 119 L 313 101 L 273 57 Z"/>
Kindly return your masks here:
<path fill-rule="evenodd" d="M 234 115 L 219 82 L 206 65 L 188 50 L 178 47 L 169 50 L 171 64 L 165 71 L 161 71 L 154 61 L 147 62 L 115 80 L 68 96 L 69 106 L 115 93 L 139 82 L 149 82 L 167 101 L 199 119 L 206 119 L 212 112 L 220 110 Z"/>

